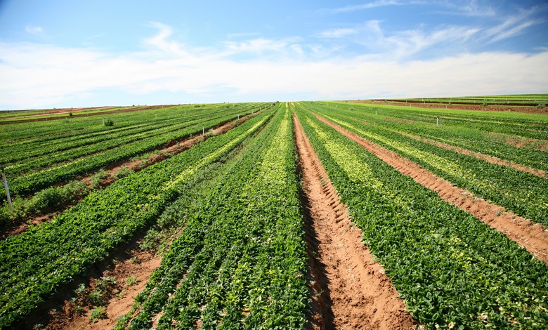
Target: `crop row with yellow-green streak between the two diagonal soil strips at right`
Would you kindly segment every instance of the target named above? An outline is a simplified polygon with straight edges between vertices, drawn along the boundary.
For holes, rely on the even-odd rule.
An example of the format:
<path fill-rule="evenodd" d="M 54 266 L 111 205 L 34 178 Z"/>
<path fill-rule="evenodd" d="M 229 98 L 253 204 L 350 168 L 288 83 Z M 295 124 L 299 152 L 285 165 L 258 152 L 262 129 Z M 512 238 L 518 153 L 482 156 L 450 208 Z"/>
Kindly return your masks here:
<path fill-rule="evenodd" d="M 467 154 L 417 141 L 331 111 L 320 114 L 349 131 L 392 150 L 453 185 L 488 199 L 536 223 L 548 225 L 548 180 L 491 164 Z"/>

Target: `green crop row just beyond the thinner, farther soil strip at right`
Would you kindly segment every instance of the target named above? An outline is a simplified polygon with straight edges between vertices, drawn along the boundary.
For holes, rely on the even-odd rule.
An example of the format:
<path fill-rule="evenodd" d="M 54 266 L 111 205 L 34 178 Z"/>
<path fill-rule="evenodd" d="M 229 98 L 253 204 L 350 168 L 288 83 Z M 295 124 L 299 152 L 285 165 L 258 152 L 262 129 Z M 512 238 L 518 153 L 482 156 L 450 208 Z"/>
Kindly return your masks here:
<path fill-rule="evenodd" d="M 441 121 L 441 125 L 436 126 L 436 121 L 432 118 L 429 123 L 406 123 L 403 120 L 398 120 L 400 117 L 398 117 L 397 113 L 386 116 L 383 110 L 377 111 L 378 114 L 375 115 L 375 110 L 373 108 L 363 111 L 351 111 L 349 110 L 350 107 L 350 105 L 338 104 L 337 107 L 334 108 L 334 105 L 330 104 L 329 107 L 325 107 L 325 111 L 332 112 L 333 110 L 336 110 L 337 112 L 353 117 L 356 120 L 367 121 L 367 124 L 409 133 L 422 138 L 429 138 L 448 145 L 463 147 L 467 150 L 512 161 L 516 164 L 530 166 L 533 169 L 548 171 L 548 152 L 524 147 L 514 147 L 507 143 L 496 142 L 489 137 L 488 132 L 479 130 L 474 124 L 445 126 L 443 121 Z M 548 124 L 546 124 L 546 126 L 548 126 Z M 546 134 L 548 136 L 548 132 Z"/>

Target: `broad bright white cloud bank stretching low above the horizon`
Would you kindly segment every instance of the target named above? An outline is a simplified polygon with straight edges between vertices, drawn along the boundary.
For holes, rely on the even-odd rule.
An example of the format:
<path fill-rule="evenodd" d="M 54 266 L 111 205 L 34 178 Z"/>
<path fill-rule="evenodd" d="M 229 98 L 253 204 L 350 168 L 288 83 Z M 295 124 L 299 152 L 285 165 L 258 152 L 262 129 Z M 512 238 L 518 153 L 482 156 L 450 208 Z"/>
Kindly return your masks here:
<path fill-rule="evenodd" d="M 180 93 L 180 102 L 185 103 L 185 97 L 192 95 L 207 95 L 202 102 L 249 100 L 252 95 L 266 100 L 318 100 L 534 93 L 548 86 L 543 69 L 548 51 L 536 55 L 456 53 L 427 61 L 381 54 L 314 58 L 310 52 L 321 53 L 323 46 L 289 39 L 252 39 L 223 44 L 216 50 L 191 48 L 171 40 L 167 25 L 155 26 L 159 32 L 145 39 L 146 51 L 117 55 L 93 48 L 0 42 L 0 107 L 58 107 L 69 102 L 73 106 L 104 105 L 98 100 L 104 90 L 126 95 L 117 104 L 133 104 L 128 95 L 148 95 L 150 103 L 166 103 L 157 95 Z M 459 40 L 474 33 L 448 27 L 384 39 L 398 49 L 417 51 L 442 39 Z M 265 52 L 271 56 L 264 56 Z M 235 54 L 248 58 L 241 60 Z"/>

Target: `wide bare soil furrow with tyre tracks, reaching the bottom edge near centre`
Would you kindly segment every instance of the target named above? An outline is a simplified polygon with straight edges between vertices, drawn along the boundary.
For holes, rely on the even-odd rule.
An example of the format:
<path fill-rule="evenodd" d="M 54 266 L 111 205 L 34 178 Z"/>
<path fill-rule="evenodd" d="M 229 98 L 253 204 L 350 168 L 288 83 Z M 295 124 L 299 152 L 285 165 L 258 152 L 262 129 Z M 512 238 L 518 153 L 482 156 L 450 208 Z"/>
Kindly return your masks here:
<path fill-rule="evenodd" d="M 294 115 L 304 180 L 311 329 L 415 329 L 398 292 L 361 241 L 346 206 Z"/>

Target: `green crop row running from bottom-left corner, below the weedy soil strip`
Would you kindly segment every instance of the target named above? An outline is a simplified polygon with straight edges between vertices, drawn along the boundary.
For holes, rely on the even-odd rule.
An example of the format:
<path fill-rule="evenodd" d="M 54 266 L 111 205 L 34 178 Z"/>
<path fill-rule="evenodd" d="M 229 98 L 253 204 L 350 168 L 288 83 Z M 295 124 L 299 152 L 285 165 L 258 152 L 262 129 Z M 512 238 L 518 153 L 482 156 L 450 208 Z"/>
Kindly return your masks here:
<path fill-rule="evenodd" d="M 0 242 L 0 328 L 13 327 L 74 277 L 151 225 L 204 166 L 218 161 L 272 116 L 266 111 L 221 136 L 133 173 L 50 223 Z"/>

